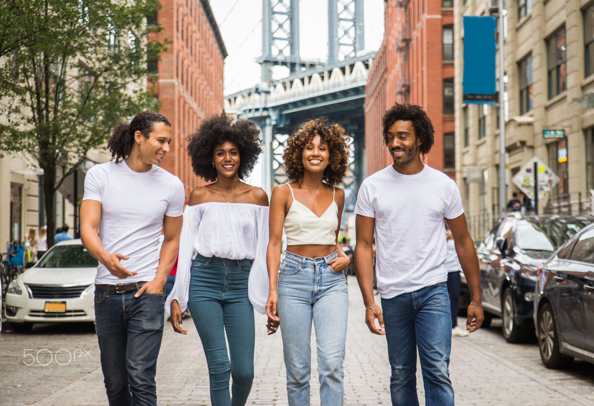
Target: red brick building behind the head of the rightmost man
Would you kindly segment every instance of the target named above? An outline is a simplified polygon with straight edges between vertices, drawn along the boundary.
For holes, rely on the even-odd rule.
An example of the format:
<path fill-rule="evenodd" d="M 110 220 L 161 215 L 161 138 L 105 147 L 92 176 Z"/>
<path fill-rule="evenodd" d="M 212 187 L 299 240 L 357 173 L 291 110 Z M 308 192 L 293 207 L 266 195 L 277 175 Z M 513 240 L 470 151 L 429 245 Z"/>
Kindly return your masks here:
<path fill-rule="evenodd" d="M 381 118 L 407 102 L 422 106 L 435 127 L 425 163 L 454 178 L 453 0 L 388 0 L 384 7 L 384 41 L 365 87 L 367 175 L 393 162 Z"/>

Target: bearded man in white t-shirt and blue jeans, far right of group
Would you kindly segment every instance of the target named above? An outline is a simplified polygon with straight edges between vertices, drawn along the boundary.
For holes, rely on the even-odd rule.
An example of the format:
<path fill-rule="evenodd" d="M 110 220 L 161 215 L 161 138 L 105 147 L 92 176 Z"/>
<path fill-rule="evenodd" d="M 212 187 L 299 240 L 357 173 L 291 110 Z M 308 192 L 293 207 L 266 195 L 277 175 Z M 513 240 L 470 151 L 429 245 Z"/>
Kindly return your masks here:
<path fill-rule="evenodd" d="M 394 406 L 419 404 L 417 350 L 426 404 L 453 406 L 444 219 L 472 295 L 466 322 L 469 332 L 483 321 L 478 259 L 456 183 L 421 160 L 434 143 L 431 119 L 416 104 L 396 103 L 384 114 L 382 125 L 394 163 L 364 180 L 355 207 L 355 265 L 365 322 L 372 333 L 386 335 Z M 374 233 L 381 308 L 373 293 Z"/>

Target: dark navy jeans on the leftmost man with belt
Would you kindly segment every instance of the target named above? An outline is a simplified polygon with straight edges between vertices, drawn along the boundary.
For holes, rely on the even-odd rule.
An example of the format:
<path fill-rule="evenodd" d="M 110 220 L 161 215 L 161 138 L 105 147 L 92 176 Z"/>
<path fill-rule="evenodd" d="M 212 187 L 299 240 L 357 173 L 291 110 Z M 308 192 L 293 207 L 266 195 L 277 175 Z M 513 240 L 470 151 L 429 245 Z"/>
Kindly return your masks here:
<path fill-rule="evenodd" d="M 163 294 L 95 288 L 95 329 L 109 406 L 157 404 L 154 375 L 163 338 Z"/>

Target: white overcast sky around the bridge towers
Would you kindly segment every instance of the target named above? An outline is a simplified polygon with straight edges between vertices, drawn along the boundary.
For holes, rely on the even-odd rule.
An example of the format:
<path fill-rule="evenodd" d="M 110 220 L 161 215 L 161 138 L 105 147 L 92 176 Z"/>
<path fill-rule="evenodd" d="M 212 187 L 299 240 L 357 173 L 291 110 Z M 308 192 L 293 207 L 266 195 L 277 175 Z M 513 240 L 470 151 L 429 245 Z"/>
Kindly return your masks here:
<path fill-rule="evenodd" d="M 225 94 L 253 87 L 261 77 L 255 59 L 262 54 L 262 0 L 211 0 L 210 7 L 229 53 L 225 59 Z M 364 9 L 365 49 L 377 50 L 384 37 L 384 0 L 364 0 Z M 299 1 L 299 31 L 301 56 L 327 59 L 327 0 Z M 286 68 L 275 68 L 274 78 L 285 75 Z"/>

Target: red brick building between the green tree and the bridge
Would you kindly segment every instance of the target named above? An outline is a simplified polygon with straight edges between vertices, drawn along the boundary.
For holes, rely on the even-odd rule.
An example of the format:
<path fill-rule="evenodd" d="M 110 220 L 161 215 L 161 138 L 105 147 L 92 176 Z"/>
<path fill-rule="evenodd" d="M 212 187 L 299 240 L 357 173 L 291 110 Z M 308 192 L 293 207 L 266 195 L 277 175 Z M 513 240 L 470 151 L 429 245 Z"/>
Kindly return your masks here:
<path fill-rule="evenodd" d="M 153 91 L 160 113 L 171 122 L 173 141 L 161 167 L 179 177 L 186 196 L 204 181 L 192 173 L 185 138 L 204 117 L 223 109 L 223 62 L 227 50 L 208 0 L 161 0 L 163 8 L 149 24 L 163 30 L 150 39 L 170 40 L 161 60 L 149 64 L 157 75 Z"/>

